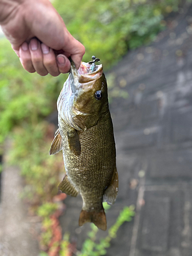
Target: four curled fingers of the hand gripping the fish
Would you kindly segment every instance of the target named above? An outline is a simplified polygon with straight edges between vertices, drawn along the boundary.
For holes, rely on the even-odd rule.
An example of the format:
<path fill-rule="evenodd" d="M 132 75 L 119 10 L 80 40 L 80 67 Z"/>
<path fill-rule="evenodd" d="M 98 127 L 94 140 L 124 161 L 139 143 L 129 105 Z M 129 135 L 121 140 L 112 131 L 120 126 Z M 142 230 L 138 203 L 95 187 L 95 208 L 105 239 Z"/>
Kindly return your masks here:
<path fill-rule="evenodd" d="M 19 58 L 25 70 L 30 73 L 36 71 L 41 76 L 48 73 L 52 76 L 68 73 L 71 67 L 71 63 L 65 55 L 55 56 L 51 48 L 41 44 L 36 38 L 31 39 L 29 44 L 27 42 L 22 44 L 19 48 Z"/>

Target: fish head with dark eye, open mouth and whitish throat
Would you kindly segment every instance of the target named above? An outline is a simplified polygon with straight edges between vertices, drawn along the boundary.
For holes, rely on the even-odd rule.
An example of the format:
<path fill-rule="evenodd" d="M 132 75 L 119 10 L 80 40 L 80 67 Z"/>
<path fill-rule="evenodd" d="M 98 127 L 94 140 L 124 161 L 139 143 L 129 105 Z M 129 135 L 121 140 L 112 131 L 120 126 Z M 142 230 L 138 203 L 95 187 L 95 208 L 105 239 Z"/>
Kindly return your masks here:
<path fill-rule="evenodd" d="M 89 63 L 81 62 L 77 71 L 74 63 L 71 63 L 68 81 L 63 86 L 63 91 L 67 89 L 65 102 L 63 99 L 57 101 L 58 112 L 62 111 L 62 118 L 76 130 L 85 131 L 96 125 L 102 113 L 109 109 L 102 65 L 96 65 L 96 70 L 89 73 L 90 66 Z M 59 107 L 61 102 L 66 105 L 65 108 Z"/>

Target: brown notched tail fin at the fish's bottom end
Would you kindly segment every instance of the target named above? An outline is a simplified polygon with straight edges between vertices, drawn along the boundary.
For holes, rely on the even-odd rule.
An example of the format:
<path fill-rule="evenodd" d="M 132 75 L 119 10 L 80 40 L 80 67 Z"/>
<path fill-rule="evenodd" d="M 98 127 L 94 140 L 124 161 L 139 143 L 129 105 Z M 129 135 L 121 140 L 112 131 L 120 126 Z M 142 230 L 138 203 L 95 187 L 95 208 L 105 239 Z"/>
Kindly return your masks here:
<path fill-rule="evenodd" d="M 79 226 L 84 223 L 93 222 L 98 228 L 106 230 L 106 217 L 104 209 L 100 211 L 86 211 L 81 210 L 79 217 Z"/>

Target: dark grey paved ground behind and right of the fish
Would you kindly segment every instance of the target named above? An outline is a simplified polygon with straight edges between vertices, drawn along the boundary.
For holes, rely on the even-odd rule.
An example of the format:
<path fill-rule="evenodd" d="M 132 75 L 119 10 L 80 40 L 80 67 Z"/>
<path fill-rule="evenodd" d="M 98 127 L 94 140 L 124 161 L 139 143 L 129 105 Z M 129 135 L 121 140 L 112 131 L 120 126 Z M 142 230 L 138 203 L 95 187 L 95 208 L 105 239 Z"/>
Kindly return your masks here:
<path fill-rule="evenodd" d="M 129 98 L 110 105 L 119 194 L 108 227 L 124 205 L 135 204 L 136 216 L 120 228 L 108 256 L 191 256 L 192 7 L 186 9 L 150 47 L 130 52 L 110 72 Z M 82 201 L 65 203 L 63 231 L 80 249 L 89 230 L 78 227 Z"/>

